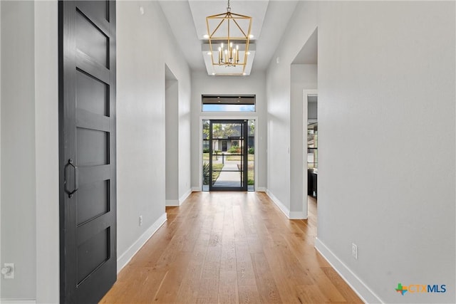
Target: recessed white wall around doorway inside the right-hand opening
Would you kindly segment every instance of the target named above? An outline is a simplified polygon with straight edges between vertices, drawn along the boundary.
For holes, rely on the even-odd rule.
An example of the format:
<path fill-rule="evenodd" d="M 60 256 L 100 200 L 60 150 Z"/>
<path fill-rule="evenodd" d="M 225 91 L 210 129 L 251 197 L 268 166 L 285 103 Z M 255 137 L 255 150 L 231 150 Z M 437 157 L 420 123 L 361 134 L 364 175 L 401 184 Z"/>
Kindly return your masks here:
<path fill-rule="evenodd" d="M 303 90 L 316 90 L 317 65 L 291 65 L 291 93 L 290 93 L 290 214 L 294 219 L 307 218 L 307 173 L 299 164 L 306 158 L 304 152 L 304 127 L 307 121 L 303 120 Z M 304 122 L 303 122 L 304 121 Z M 306 165 L 306 164 L 304 164 Z M 304 167 L 305 168 L 305 167 Z M 305 193 L 305 194 L 304 194 Z"/>

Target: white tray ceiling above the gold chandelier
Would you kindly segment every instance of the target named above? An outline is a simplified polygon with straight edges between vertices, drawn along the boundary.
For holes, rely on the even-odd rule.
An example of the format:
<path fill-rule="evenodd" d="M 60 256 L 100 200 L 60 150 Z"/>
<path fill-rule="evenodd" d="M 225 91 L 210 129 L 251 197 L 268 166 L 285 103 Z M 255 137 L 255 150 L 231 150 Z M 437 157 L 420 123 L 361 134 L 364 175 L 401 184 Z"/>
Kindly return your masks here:
<path fill-rule="evenodd" d="M 230 0 L 232 13 L 252 16 L 251 33 L 254 36 L 251 39 L 252 46 L 249 46 L 251 54 L 248 56 L 249 61 L 245 70 L 247 75 L 254 71 L 266 70 L 298 1 Z M 208 75 L 233 74 L 231 68 L 222 67 L 214 70 L 212 58 L 207 55 L 208 41 L 204 38 L 204 34 L 207 34 L 206 17 L 226 13 L 227 1 L 162 0 L 159 3 L 192 70 L 206 71 Z M 296 58 L 296 63 L 316 61 L 306 58 L 316 58 L 316 51 L 314 55 L 309 51 L 301 51 L 300 55 L 302 58 Z"/>

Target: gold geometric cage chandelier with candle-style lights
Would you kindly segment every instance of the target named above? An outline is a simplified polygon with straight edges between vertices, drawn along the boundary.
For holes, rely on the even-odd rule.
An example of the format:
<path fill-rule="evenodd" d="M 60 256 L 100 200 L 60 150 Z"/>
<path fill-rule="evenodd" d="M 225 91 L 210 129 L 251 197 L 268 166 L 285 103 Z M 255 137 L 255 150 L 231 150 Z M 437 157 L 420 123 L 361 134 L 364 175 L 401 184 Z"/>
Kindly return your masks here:
<path fill-rule="evenodd" d="M 207 16 L 206 25 L 212 65 L 227 68 L 242 65 L 239 74 L 244 74 L 252 38 L 252 17 L 232 13 L 228 0 L 227 12 Z"/>

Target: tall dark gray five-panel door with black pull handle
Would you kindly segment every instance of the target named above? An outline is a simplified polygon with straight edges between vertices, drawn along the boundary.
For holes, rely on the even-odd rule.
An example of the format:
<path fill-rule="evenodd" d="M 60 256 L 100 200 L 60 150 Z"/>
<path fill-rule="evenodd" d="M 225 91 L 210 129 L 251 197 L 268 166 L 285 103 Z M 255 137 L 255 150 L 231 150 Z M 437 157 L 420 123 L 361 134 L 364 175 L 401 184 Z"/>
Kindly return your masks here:
<path fill-rule="evenodd" d="M 59 2 L 61 303 L 117 277 L 115 1 Z"/>

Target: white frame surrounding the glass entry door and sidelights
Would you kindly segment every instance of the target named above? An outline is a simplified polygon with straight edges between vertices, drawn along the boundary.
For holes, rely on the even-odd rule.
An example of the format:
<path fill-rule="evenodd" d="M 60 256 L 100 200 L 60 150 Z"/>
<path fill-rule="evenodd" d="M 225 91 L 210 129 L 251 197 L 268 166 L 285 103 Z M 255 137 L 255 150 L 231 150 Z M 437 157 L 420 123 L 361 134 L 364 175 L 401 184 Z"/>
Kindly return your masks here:
<path fill-rule="evenodd" d="M 204 114 L 204 113 L 202 113 Z M 254 149 L 254 189 L 255 192 L 258 190 L 258 125 L 259 118 L 257 115 L 220 115 L 220 113 L 214 114 L 214 112 L 207 112 L 207 115 L 199 115 L 199 128 L 198 128 L 198 187 L 192 189 L 193 191 L 202 191 L 202 121 L 203 120 L 255 120 L 255 149 Z M 265 154 L 266 155 L 266 154 Z"/>

